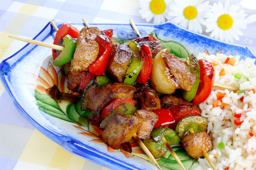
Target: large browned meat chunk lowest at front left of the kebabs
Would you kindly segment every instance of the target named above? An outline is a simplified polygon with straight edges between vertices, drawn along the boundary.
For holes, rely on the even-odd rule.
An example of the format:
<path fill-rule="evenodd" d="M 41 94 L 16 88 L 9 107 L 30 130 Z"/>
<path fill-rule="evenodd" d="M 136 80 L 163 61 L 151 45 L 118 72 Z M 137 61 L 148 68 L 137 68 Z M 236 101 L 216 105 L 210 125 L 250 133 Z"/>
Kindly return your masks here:
<path fill-rule="evenodd" d="M 137 132 L 140 121 L 133 115 L 115 114 L 102 131 L 102 139 L 109 146 L 118 149 L 122 143 L 128 142 Z"/>

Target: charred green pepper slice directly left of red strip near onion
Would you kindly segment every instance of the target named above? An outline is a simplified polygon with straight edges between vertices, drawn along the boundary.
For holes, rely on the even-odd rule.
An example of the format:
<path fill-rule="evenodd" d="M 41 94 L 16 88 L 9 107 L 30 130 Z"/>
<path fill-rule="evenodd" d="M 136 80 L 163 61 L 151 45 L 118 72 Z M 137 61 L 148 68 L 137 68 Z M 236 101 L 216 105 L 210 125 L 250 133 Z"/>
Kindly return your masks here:
<path fill-rule="evenodd" d="M 133 57 L 131 57 L 131 65 L 126 71 L 124 82 L 127 84 L 133 84 L 142 68 L 142 57 L 140 53 L 141 46 L 139 46 L 139 44 L 135 41 L 129 41 L 127 43 L 133 52 Z"/>

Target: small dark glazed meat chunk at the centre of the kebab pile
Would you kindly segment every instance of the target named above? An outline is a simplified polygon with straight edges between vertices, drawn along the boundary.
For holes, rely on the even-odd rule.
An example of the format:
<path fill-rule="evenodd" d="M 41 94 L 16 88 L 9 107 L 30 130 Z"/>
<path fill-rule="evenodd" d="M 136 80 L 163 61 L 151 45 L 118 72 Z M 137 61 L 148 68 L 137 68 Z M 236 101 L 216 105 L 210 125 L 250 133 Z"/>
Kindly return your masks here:
<path fill-rule="evenodd" d="M 146 86 L 138 88 L 134 93 L 133 99 L 137 101 L 137 109 L 154 111 L 161 108 L 160 99 L 155 94 L 154 88 Z"/>

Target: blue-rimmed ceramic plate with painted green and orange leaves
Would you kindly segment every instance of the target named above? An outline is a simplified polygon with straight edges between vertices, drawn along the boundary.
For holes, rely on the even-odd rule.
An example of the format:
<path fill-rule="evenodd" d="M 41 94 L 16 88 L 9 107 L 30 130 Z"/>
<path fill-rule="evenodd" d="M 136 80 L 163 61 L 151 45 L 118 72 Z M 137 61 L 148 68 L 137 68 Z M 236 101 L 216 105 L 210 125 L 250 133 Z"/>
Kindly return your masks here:
<path fill-rule="evenodd" d="M 57 27 L 63 23 L 56 22 Z M 72 24 L 81 29 L 84 24 Z M 113 29 L 115 40 L 125 42 L 134 39 L 130 24 L 91 24 L 101 30 Z M 255 58 L 251 52 L 238 45 L 228 44 L 193 33 L 170 22 L 164 24 L 137 24 L 141 35 L 151 33 L 166 47 L 174 48 L 181 55 L 198 54 L 208 49 L 210 54 L 222 50 L 226 55 Z M 53 43 L 56 31 L 50 23 L 35 40 Z M 181 42 L 181 43 L 180 43 Z M 185 47 L 187 46 L 187 48 Z M 141 147 L 131 140 L 131 152 L 113 150 L 101 140 L 101 130 L 91 126 L 80 111 L 79 103 L 59 103 L 47 95 L 48 88 L 56 85 L 61 92 L 78 95 L 67 89 L 67 80 L 60 68 L 52 66 L 52 50 L 43 46 L 27 44 L 0 64 L 1 80 L 13 98 L 20 113 L 41 133 L 69 152 L 111 169 L 157 169 L 143 153 Z M 185 168 L 197 169 L 199 164 L 189 158 L 181 146 L 173 146 Z M 170 152 L 158 160 L 162 169 L 180 169 Z"/>

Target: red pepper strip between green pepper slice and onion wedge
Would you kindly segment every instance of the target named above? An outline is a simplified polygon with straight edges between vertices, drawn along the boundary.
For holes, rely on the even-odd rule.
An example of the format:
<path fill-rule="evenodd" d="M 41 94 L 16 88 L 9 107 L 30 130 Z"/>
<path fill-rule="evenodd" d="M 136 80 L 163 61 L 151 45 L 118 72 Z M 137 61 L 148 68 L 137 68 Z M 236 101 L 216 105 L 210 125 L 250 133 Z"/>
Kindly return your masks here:
<path fill-rule="evenodd" d="M 139 72 L 136 82 L 145 85 L 147 83 L 148 78 L 150 77 L 150 73 L 153 66 L 151 50 L 147 44 L 141 45 L 141 56 L 143 60 L 142 69 L 141 72 Z"/>

